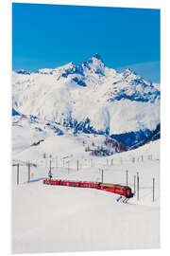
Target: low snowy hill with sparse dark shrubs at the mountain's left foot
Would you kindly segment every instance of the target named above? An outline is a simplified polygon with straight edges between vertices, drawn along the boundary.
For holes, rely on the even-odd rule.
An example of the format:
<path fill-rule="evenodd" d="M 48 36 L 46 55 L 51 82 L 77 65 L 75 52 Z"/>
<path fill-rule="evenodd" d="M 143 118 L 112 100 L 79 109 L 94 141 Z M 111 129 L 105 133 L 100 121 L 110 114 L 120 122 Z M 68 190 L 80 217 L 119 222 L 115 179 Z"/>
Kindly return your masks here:
<path fill-rule="evenodd" d="M 14 110 L 13 112 L 15 113 Z M 74 134 L 73 128 L 52 121 L 47 122 L 35 116 L 18 114 L 12 117 L 13 158 L 27 159 L 29 155 L 33 158 L 36 155 L 42 157 L 43 153 L 73 155 L 74 149 L 76 149 L 76 157 L 79 155 L 86 157 L 113 155 L 127 151 L 128 148 L 111 137 L 84 133 L 77 135 Z"/>

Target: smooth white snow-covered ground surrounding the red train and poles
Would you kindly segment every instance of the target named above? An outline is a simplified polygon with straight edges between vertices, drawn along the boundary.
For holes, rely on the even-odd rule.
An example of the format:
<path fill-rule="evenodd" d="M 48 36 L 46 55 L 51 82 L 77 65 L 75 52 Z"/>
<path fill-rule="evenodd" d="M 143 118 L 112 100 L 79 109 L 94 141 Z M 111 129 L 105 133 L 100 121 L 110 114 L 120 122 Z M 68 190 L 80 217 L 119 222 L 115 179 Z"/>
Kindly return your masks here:
<path fill-rule="evenodd" d="M 31 166 L 31 182 L 27 183 L 27 167 L 21 165 L 19 185 L 17 168 L 12 168 L 13 252 L 159 247 L 160 140 L 126 153 L 94 157 L 84 151 L 82 143 L 94 138 L 102 136 L 51 136 L 38 146 L 14 150 L 13 163 L 30 161 L 37 167 Z M 110 192 L 43 185 L 50 159 L 54 178 L 101 181 L 104 170 L 104 182 L 126 184 L 128 171 L 132 190 L 138 172 L 139 201 L 136 195 L 124 204 L 116 201 L 119 195 Z"/>

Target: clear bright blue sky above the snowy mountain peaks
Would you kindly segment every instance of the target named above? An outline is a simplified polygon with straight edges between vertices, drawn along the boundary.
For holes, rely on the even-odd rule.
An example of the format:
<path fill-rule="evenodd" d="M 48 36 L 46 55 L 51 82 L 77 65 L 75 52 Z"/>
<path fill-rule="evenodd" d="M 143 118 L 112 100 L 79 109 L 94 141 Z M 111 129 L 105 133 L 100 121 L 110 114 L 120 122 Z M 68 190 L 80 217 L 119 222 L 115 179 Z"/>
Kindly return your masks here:
<path fill-rule="evenodd" d="M 12 4 L 13 70 L 80 64 L 96 52 L 159 82 L 160 10 Z"/>

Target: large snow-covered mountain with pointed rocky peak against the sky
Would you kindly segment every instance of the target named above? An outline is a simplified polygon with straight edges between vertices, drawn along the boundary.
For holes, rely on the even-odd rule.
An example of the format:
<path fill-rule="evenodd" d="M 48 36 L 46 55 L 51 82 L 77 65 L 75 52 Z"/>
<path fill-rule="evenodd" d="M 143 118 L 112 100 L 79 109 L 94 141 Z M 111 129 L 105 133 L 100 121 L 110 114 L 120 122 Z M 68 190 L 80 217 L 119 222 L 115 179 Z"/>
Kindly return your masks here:
<path fill-rule="evenodd" d="M 12 83 L 14 110 L 74 133 L 106 134 L 131 146 L 160 124 L 159 84 L 130 69 L 118 73 L 98 54 L 78 65 L 13 71 Z"/>

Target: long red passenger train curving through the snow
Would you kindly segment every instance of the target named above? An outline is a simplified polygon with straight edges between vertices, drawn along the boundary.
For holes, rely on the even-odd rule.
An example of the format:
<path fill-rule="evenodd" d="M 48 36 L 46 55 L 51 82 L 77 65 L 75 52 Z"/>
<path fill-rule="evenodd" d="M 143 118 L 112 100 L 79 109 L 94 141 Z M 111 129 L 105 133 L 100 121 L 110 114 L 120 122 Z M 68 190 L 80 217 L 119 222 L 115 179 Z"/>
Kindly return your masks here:
<path fill-rule="evenodd" d="M 44 179 L 43 184 L 47 185 L 58 185 L 58 186 L 69 186 L 76 188 L 91 188 L 96 190 L 102 190 L 106 192 L 114 192 L 130 198 L 133 196 L 130 187 L 119 184 L 90 182 L 90 181 L 69 181 L 69 180 L 53 180 Z"/>

